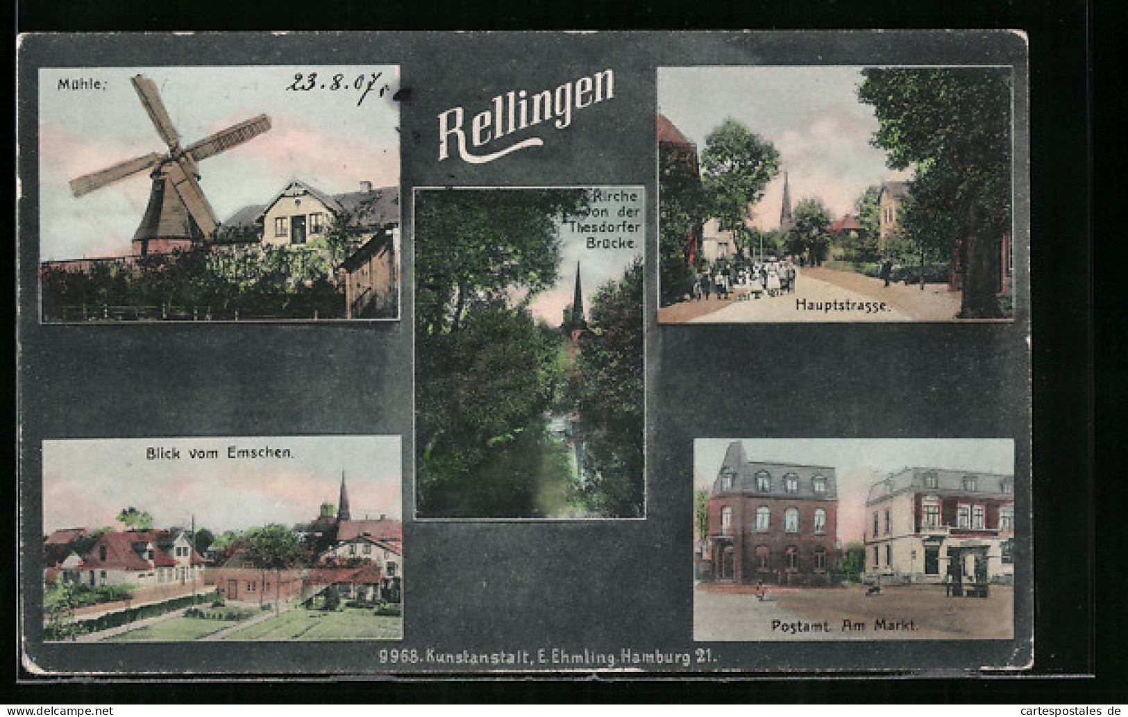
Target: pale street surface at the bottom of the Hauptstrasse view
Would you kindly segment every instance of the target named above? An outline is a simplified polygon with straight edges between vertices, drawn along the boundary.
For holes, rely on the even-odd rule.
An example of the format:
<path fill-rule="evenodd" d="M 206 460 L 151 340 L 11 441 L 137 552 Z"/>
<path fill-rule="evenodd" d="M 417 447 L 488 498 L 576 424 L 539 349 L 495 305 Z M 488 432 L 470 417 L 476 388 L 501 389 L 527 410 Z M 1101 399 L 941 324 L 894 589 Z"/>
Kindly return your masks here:
<path fill-rule="evenodd" d="M 694 324 L 740 324 L 774 321 L 910 321 L 907 313 L 853 289 L 814 278 L 800 269 L 793 293 L 778 296 L 764 294 L 734 301 L 728 307 L 690 319 Z"/>

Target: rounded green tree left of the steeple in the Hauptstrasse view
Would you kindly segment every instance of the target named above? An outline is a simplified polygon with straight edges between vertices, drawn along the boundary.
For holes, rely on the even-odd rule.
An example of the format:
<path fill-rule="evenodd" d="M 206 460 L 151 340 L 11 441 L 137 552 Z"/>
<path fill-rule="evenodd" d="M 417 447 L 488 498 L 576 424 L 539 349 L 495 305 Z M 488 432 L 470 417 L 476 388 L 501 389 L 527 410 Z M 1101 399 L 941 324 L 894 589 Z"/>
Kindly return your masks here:
<path fill-rule="evenodd" d="M 743 123 L 728 118 L 705 138 L 702 152 L 705 191 L 722 229 L 740 232 L 751 206 L 779 174 L 779 152 Z"/>

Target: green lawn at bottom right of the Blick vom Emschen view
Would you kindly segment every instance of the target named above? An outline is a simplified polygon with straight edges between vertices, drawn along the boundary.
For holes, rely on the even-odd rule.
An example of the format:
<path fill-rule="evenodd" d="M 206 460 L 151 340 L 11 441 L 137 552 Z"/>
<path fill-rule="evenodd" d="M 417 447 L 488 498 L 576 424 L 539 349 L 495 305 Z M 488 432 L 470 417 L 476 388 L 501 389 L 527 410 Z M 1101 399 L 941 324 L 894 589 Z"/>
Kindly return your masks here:
<path fill-rule="evenodd" d="M 345 608 L 321 612 L 296 608 L 228 632 L 224 640 L 394 640 L 403 637 L 396 616 L 377 616 L 371 609 Z"/>

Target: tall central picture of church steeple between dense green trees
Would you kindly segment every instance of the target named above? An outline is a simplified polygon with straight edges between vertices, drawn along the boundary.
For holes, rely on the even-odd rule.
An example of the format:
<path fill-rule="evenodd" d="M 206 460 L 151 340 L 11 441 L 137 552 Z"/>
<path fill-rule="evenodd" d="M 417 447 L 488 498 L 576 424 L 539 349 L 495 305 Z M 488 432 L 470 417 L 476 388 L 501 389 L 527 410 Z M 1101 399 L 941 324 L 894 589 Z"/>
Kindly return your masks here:
<path fill-rule="evenodd" d="M 644 515 L 644 206 L 416 192 L 417 517 Z"/>

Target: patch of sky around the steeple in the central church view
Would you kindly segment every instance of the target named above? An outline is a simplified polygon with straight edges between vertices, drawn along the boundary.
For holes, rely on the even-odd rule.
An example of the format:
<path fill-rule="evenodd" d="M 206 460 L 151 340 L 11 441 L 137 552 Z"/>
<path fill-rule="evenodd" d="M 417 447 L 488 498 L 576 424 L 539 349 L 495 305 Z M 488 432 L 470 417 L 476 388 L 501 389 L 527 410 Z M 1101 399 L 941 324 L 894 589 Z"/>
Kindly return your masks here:
<path fill-rule="evenodd" d="M 623 272 L 631 265 L 635 258 L 641 258 L 643 255 L 643 246 L 645 245 L 645 195 L 642 187 L 601 187 L 603 192 L 610 191 L 628 191 L 636 193 L 637 201 L 634 202 L 592 202 L 590 209 L 593 210 L 607 210 L 607 219 L 583 219 L 580 220 L 583 223 L 600 223 L 600 222 L 614 222 L 619 223 L 624 221 L 623 218 L 618 216 L 619 210 L 626 207 L 627 210 L 634 210 L 635 219 L 628 219 L 632 223 L 642 224 L 641 231 L 635 233 L 598 233 L 591 234 L 580 231 L 573 231 L 572 227 L 564 222 L 561 225 L 561 255 L 563 259 L 561 260 L 559 278 L 556 285 L 550 290 L 539 294 L 529 308 L 532 315 L 538 319 L 544 319 L 553 326 L 558 326 L 564 317 L 564 307 L 572 303 L 572 296 L 575 293 L 575 267 L 576 262 L 580 263 L 580 284 L 583 292 L 583 306 L 588 313 L 591 316 L 591 298 L 596 295 L 599 287 L 609 281 L 617 280 L 623 276 Z M 619 248 L 619 249 L 589 249 L 587 241 L 589 236 L 596 236 L 597 238 L 634 238 L 635 248 Z"/>

